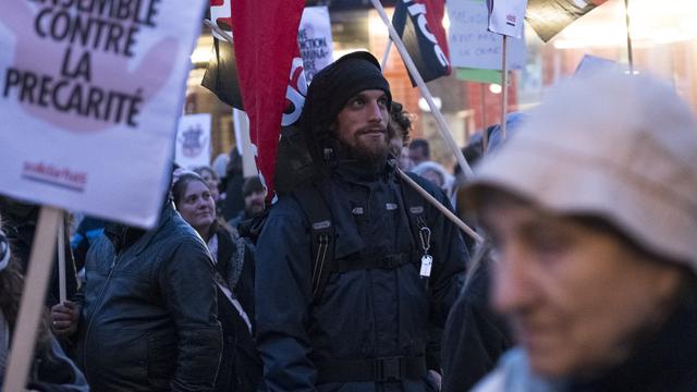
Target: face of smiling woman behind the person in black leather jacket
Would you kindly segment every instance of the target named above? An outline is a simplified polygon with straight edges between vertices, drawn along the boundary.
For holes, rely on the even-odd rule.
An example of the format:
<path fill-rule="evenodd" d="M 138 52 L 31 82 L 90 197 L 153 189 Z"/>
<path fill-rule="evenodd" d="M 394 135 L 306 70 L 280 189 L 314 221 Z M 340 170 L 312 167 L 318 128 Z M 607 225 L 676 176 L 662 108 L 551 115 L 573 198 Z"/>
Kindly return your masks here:
<path fill-rule="evenodd" d="M 197 232 L 205 232 L 216 220 L 216 203 L 208 185 L 191 181 L 176 206 L 179 213 Z"/>

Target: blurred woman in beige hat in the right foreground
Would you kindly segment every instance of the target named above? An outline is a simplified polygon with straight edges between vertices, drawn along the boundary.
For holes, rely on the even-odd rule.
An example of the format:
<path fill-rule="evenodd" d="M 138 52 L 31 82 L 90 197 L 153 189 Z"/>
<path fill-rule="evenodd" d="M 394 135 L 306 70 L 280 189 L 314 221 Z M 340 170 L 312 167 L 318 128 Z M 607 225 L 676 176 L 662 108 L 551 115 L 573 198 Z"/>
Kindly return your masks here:
<path fill-rule="evenodd" d="M 697 390 L 697 126 L 672 88 L 570 81 L 467 191 L 518 342 L 476 391 Z"/>

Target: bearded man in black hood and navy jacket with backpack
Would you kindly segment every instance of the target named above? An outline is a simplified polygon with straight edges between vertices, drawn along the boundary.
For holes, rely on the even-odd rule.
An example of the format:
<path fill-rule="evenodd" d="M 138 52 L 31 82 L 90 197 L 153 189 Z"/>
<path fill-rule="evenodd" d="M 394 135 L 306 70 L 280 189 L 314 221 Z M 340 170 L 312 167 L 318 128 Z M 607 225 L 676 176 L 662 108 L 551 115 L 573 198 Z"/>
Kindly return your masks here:
<path fill-rule="evenodd" d="M 257 346 L 270 391 L 436 390 L 429 331 L 443 324 L 468 256 L 457 229 L 398 176 L 391 102 L 367 52 L 309 86 L 302 132 L 321 174 L 279 198 L 257 244 Z"/>

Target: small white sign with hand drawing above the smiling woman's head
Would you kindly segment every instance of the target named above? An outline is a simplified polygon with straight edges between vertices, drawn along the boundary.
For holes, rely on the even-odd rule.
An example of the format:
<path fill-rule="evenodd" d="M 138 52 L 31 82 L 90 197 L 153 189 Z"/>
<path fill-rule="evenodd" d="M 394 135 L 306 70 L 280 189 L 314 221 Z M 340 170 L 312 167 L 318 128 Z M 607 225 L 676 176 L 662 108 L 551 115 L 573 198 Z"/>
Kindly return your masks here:
<path fill-rule="evenodd" d="M 179 120 L 174 161 L 187 169 L 210 164 L 210 114 L 184 115 Z"/>

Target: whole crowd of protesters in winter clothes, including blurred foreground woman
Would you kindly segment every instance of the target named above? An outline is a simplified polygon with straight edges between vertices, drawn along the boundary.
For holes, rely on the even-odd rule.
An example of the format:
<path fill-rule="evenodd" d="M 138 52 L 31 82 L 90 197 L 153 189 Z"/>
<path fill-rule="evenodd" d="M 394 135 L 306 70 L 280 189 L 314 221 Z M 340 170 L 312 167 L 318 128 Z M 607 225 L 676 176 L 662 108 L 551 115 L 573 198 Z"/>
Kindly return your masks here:
<path fill-rule="evenodd" d="M 472 139 L 474 177 L 413 121 L 346 54 L 307 90 L 313 175 L 274 204 L 233 151 L 174 169 L 154 229 L 84 217 L 27 389 L 697 390 L 697 123 L 672 87 L 562 83 Z M 0 383 L 37 211 L 0 198 Z"/>

